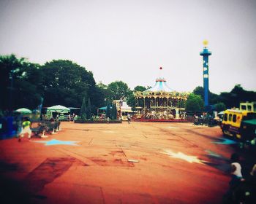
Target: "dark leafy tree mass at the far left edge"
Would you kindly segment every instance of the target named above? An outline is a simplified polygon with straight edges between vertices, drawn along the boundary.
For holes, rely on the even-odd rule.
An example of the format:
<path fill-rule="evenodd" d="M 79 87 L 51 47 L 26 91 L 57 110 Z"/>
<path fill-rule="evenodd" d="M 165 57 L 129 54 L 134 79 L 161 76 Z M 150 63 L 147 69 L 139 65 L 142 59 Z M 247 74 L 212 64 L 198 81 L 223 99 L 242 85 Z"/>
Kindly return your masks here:
<path fill-rule="evenodd" d="M 0 56 L 0 109 L 34 109 L 42 92 L 42 72 L 39 65 L 15 55 Z"/>

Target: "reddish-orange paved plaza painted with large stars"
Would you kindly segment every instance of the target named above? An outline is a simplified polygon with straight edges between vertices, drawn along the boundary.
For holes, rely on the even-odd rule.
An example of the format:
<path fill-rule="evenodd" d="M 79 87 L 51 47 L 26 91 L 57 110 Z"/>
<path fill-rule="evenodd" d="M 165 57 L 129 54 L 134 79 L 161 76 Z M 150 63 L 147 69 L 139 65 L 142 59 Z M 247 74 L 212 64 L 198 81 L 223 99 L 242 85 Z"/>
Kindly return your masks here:
<path fill-rule="evenodd" d="M 61 122 L 0 149 L 10 203 L 221 203 L 234 152 L 219 127 L 187 122 Z"/>

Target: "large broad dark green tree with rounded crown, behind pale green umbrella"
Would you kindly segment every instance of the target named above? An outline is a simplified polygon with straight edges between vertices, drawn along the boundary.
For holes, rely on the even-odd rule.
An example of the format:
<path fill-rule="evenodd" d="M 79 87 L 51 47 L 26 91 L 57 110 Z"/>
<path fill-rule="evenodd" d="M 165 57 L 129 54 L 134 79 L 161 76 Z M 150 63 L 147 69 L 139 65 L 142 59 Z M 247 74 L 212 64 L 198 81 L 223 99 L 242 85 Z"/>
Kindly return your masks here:
<path fill-rule="evenodd" d="M 77 107 L 83 96 L 97 103 L 94 77 L 86 68 L 70 60 L 52 60 L 42 66 L 42 73 L 45 106 Z"/>

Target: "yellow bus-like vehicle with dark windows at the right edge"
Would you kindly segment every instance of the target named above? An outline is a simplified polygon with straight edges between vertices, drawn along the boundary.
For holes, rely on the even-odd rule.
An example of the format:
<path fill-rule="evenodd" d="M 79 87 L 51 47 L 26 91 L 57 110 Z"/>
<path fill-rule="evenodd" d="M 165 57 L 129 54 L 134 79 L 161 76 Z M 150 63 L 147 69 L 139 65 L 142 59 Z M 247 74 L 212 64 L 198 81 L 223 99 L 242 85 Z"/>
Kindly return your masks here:
<path fill-rule="evenodd" d="M 243 122 L 250 119 L 256 119 L 256 112 L 227 109 L 224 111 L 222 120 L 222 132 L 233 138 L 242 139 L 244 132 Z"/>

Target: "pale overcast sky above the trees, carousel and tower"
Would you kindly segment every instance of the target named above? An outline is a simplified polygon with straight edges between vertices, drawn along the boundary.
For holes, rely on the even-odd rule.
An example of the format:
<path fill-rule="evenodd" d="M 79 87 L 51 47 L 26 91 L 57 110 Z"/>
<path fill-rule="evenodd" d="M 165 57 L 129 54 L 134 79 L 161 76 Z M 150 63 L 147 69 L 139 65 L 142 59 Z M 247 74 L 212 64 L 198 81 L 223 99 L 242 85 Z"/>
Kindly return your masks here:
<path fill-rule="evenodd" d="M 105 85 L 203 87 L 205 39 L 210 91 L 256 91 L 256 0 L 0 0 L 0 55 L 72 60 Z"/>

